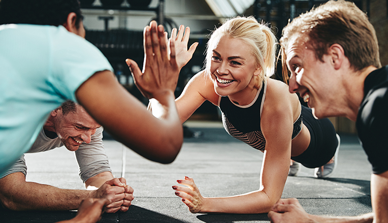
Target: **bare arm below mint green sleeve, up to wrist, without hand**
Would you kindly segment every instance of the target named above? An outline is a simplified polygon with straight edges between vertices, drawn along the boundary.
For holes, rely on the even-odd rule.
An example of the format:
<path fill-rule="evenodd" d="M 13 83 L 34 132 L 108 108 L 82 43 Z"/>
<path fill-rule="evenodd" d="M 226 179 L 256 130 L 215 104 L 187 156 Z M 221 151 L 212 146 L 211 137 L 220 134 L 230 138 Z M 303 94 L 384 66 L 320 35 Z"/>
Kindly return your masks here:
<path fill-rule="evenodd" d="M 90 77 L 76 94 L 91 116 L 128 148 L 155 162 L 174 161 L 183 143 L 183 130 L 172 91 L 156 98 L 164 106 L 160 119 L 104 72 Z"/>

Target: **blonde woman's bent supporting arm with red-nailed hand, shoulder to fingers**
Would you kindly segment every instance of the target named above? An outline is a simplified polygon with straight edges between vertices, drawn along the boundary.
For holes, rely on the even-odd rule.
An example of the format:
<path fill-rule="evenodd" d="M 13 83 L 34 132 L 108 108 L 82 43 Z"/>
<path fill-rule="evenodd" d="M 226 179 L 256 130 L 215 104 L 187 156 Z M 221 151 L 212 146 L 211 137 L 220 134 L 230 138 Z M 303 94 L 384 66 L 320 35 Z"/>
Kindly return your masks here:
<path fill-rule="evenodd" d="M 184 203 L 193 213 L 268 213 L 271 207 L 281 198 L 289 169 L 291 154 L 291 136 L 293 131 L 293 112 L 288 99 L 282 96 L 287 89 L 273 89 L 270 83 L 267 88 L 266 102 L 261 129 L 266 139 L 266 150 L 261 172 L 261 185 L 254 192 L 223 198 L 204 198 L 199 193 L 192 179 L 180 180 L 183 186 L 174 186 L 184 199 Z M 272 97 L 275 97 L 276 100 Z M 272 103 L 271 103 L 272 102 Z M 267 110 L 266 110 L 267 109 Z M 258 111 L 257 113 L 259 113 Z M 288 123 L 288 124 L 287 124 Z"/>

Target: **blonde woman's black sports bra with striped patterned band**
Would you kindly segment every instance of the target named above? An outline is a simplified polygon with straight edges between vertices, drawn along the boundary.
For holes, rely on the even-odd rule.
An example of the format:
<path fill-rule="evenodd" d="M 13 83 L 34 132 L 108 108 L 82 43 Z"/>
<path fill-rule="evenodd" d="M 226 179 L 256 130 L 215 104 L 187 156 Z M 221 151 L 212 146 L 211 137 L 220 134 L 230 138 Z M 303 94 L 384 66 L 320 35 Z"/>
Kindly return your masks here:
<path fill-rule="evenodd" d="M 263 136 L 260 118 L 262 116 L 267 85 L 263 82 L 256 97 L 249 105 L 237 105 L 228 97 L 219 97 L 218 107 L 222 113 L 223 128 L 236 139 L 239 139 L 255 149 L 264 152 L 266 139 Z M 260 111 L 260 115 L 257 115 Z M 302 130 L 302 110 L 299 118 L 294 122 L 292 139 Z"/>

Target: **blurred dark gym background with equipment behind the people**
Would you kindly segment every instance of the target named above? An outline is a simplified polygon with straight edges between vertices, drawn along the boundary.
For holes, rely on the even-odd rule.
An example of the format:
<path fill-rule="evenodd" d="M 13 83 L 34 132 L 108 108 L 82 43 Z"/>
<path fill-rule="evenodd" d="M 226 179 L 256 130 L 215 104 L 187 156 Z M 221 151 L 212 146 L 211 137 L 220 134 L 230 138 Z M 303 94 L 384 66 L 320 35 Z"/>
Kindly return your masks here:
<path fill-rule="evenodd" d="M 180 24 L 191 30 L 189 46 L 199 42 L 193 58 L 181 70 L 176 97 L 187 81 L 202 70 L 208 35 L 225 19 L 253 15 L 258 21 L 270 23 L 281 37 L 282 28 L 289 20 L 317 7 L 324 0 L 80 0 L 84 15 L 86 40 L 98 47 L 110 61 L 119 82 L 144 104 L 136 88 L 125 59 L 143 65 L 143 28 L 151 20 L 163 24 L 169 35 Z M 357 0 L 354 3 L 367 13 L 379 40 L 382 65 L 388 64 L 388 0 Z M 273 78 L 281 80 L 281 65 Z M 204 103 L 190 118 L 219 120 L 217 107 Z M 354 122 L 347 118 L 331 118 L 337 132 L 355 133 Z"/>

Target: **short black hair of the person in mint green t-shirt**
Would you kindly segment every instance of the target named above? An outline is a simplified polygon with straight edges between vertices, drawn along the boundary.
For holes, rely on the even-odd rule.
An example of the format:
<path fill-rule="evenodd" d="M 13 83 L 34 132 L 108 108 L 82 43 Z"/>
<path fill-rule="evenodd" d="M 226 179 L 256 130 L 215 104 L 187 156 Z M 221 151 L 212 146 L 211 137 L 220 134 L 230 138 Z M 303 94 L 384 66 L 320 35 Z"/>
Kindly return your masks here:
<path fill-rule="evenodd" d="M 82 21 L 78 0 L 0 0 L 0 24 L 63 25 L 68 15 L 77 15 L 76 27 Z"/>

